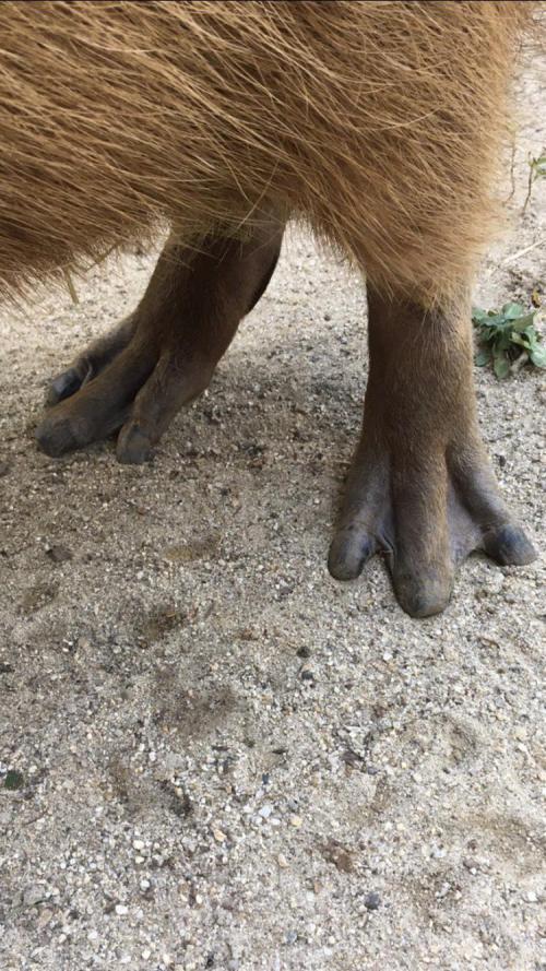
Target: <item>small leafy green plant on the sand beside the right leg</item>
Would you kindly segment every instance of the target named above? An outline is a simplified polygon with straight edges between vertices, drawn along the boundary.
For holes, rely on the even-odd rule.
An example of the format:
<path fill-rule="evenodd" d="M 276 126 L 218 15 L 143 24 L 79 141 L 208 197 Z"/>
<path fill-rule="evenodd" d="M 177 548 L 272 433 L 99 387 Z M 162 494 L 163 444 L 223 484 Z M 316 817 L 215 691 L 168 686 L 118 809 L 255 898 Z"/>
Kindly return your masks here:
<path fill-rule="evenodd" d="M 500 310 L 474 307 L 474 324 L 478 348 L 478 367 L 492 363 L 497 378 L 508 378 L 526 364 L 546 367 L 546 345 L 535 327 L 536 309 L 526 310 L 522 304 L 505 304 Z"/>

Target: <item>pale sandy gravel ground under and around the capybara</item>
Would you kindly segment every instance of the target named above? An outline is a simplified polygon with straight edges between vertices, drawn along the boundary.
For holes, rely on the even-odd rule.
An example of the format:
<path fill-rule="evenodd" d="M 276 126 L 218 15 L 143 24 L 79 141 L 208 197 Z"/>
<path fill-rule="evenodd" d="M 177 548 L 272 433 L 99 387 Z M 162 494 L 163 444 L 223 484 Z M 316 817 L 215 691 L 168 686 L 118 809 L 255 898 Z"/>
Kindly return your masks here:
<path fill-rule="evenodd" d="M 482 306 L 546 291 L 544 109 L 531 73 Z M 418 621 L 379 558 L 330 579 L 366 307 L 298 233 L 153 463 L 40 454 L 47 378 L 152 264 L 0 319 L 1 968 L 544 969 L 541 564 L 473 557 Z M 476 378 L 541 546 L 542 375 Z"/>

